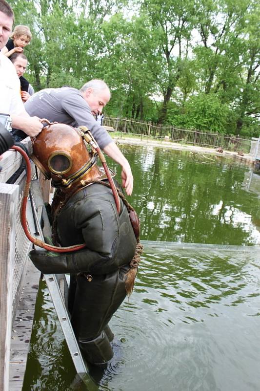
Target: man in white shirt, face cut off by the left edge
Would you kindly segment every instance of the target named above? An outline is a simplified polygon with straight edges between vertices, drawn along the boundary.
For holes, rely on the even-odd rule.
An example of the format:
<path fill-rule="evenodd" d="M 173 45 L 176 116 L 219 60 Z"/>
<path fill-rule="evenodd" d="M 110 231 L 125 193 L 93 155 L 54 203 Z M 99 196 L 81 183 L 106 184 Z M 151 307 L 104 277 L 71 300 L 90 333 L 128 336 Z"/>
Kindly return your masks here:
<path fill-rule="evenodd" d="M 0 0 L 0 49 L 11 35 L 14 13 L 11 6 Z M 0 53 L 0 113 L 9 114 L 12 127 L 23 130 L 31 137 L 40 133 L 43 125 L 38 117 L 30 117 L 20 96 L 20 81 L 11 61 Z"/>

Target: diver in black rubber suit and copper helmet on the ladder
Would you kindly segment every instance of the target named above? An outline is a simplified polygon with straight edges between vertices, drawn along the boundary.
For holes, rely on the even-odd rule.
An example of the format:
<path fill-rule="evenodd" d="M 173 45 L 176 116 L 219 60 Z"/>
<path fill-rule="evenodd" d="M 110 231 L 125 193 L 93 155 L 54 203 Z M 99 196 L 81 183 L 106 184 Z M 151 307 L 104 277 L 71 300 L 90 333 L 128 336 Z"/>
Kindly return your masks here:
<path fill-rule="evenodd" d="M 127 286 L 133 289 L 137 238 L 121 198 L 118 213 L 83 133 L 63 124 L 47 126 L 34 139 L 32 159 L 58 188 L 52 202 L 54 244 L 86 246 L 64 255 L 33 250 L 29 256 L 43 274 L 70 273 L 68 309 L 80 350 L 87 362 L 103 364 L 113 357 L 108 322 Z"/>

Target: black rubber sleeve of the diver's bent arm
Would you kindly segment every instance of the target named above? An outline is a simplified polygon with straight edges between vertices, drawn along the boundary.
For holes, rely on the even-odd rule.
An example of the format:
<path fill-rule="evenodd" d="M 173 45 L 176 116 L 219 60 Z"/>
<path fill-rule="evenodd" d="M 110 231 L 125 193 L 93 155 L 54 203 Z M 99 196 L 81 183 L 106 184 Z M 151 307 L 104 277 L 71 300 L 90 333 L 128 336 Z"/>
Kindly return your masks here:
<path fill-rule="evenodd" d="M 43 274 L 56 273 L 92 273 L 105 274 L 118 268 L 117 252 L 119 246 L 119 221 L 111 202 L 95 202 L 87 218 L 79 207 L 74 219 L 81 229 L 86 248 L 80 251 L 57 255 L 43 250 L 29 253 L 34 265 Z M 88 203 L 91 208 L 91 203 Z M 84 208 L 84 210 L 90 210 Z"/>

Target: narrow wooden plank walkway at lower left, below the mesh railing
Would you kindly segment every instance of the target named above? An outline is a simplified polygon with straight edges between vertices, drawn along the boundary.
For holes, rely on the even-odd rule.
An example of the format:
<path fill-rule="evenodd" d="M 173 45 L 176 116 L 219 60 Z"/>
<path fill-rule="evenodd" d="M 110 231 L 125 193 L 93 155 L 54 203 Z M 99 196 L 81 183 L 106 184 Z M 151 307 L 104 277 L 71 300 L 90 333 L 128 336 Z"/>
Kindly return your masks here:
<path fill-rule="evenodd" d="M 22 390 L 39 279 L 40 271 L 29 260 L 12 329 L 9 391 Z"/>

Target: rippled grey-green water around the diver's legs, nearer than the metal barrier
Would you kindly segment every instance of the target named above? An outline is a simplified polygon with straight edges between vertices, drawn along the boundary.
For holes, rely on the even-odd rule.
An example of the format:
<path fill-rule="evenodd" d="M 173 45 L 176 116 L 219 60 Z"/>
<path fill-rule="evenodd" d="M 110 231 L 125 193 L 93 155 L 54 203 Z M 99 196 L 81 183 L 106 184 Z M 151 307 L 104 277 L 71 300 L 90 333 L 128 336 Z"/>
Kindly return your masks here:
<path fill-rule="evenodd" d="M 259 252 L 148 246 L 99 386 L 75 378 L 44 286 L 40 301 L 23 391 L 259 390 Z"/>

